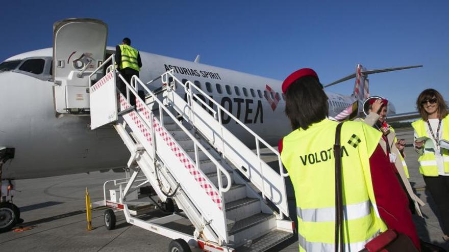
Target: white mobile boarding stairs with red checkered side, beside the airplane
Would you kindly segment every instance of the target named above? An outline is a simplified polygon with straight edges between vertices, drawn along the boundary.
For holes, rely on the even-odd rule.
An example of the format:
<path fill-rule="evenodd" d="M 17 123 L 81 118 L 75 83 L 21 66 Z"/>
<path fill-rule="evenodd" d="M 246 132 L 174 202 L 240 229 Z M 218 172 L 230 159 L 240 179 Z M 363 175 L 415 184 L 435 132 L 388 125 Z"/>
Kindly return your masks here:
<path fill-rule="evenodd" d="M 114 126 L 131 153 L 132 174 L 110 191 L 109 200 L 105 191 L 105 205 L 122 210 L 132 225 L 172 238 L 170 251 L 188 251 L 190 246 L 264 251 L 293 236 L 294 222 L 285 219 L 288 174 L 275 149 L 214 100 L 199 99 L 203 91 L 191 81 L 181 82 L 172 71 L 161 75 L 163 87 L 152 92 L 137 76 L 131 83 L 124 80 L 112 67 L 114 55 L 96 71 L 109 62 L 104 77 L 90 87 L 91 128 Z M 116 89 L 118 78 L 126 85 L 125 94 Z M 187 93 L 186 100 L 177 89 Z M 145 101 L 137 90 L 145 91 Z M 254 137 L 257 153 L 224 127 L 225 115 Z M 279 173 L 261 159 L 261 145 L 277 155 Z M 140 216 L 133 202 L 138 201 L 137 190 L 148 185 L 161 202 L 172 199 L 179 210 L 151 220 Z M 105 212 L 108 228 L 114 217 Z"/>

